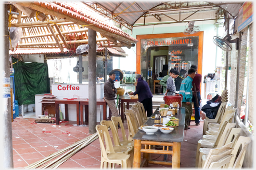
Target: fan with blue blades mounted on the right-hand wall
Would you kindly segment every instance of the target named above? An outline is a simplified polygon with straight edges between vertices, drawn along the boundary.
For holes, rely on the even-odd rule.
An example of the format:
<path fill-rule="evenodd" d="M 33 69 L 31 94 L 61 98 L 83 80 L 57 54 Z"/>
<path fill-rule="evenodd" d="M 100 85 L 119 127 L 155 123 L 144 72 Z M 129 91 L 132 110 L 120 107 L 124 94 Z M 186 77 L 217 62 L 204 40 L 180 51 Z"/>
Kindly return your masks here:
<path fill-rule="evenodd" d="M 220 36 L 214 36 L 212 40 L 216 46 L 220 47 L 224 51 L 232 50 L 231 43 L 236 43 L 236 50 L 239 48 L 239 38 L 231 40 L 230 35 L 226 35 L 224 38 Z"/>

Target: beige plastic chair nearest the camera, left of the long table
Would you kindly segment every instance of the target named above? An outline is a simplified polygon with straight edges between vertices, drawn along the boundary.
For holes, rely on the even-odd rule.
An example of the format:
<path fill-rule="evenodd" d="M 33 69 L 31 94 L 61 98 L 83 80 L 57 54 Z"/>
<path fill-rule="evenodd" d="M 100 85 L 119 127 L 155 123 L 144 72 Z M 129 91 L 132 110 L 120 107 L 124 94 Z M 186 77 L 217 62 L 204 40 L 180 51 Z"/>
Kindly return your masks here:
<path fill-rule="evenodd" d="M 101 163 L 100 168 L 109 168 L 113 167 L 116 164 L 121 164 L 122 168 L 131 167 L 131 158 L 129 154 L 125 153 L 116 153 L 114 151 L 112 141 L 108 132 L 106 125 L 96 125 L 96 131 L 99 136 L 100 150 L 101 150 Z M 104 145 L 104 141 L 106 147 Z"/>

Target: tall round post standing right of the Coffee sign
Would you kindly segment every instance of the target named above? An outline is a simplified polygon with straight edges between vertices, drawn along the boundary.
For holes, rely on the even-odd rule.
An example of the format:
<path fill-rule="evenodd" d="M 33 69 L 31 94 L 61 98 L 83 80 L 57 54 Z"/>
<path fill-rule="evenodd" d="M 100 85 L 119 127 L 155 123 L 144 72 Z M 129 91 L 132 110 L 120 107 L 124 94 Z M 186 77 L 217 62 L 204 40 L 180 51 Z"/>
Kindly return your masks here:
<path fill-rule="evenodd" d="M 97 101 L 96 101 L 96 31 L 88 29 L 88 77 L 89 77 L 89 133 L 96 133 Z"/>

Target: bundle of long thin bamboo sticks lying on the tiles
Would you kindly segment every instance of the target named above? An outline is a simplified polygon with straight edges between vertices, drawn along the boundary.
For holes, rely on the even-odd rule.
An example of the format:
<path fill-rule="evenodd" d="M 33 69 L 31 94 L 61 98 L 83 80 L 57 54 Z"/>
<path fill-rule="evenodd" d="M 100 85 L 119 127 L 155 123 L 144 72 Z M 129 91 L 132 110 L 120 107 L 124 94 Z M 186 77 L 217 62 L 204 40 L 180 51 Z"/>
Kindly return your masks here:
<path fill-rule="evenodd" d="M 58 152 L 52 153 L 48 157 L 46 157 L 40 161 L 37 161 L 33 164 L 30 164 L 29 166 L 27 166 L 25 168 L 32 169 L 32 168 L 39 167 L 39 169 L 45 169 L 45 168 L 56 169 L 62 163 L 66 162 L 70 157 L 72 157 L 76 152 L 80 151 L 87 145 L 91 144 L 97 138 L 98 138 L 98 134 L 94 133 L 93 135 L 87 136 L 86 138 L 84 138 L 82 140 L 76 141 L 74 144 L 72 144 L 64 149 L 61 149 Z M 59 155 L 61 155 L 61 156 L 58 157 Z M 58 157 L 58 158 L 56 158 L 56 157 Z M 56 159 L 53 160 L 54 158 L 56 158 Z M 53 161 L 51 161 L 51 160 L 53 160 Z M 50 161 L 50 162 L 47 163 L 48 161 Z M 47 164 L 45 164 L 45 163 L 47 163 Z"/>

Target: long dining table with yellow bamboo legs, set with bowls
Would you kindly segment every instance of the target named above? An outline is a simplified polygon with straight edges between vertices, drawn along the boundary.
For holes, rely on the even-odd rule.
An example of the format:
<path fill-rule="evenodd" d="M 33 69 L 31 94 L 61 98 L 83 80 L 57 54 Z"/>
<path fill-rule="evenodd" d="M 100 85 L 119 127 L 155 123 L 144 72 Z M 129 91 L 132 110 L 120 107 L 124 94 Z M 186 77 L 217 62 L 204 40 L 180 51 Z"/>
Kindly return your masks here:
<path fill-rule="evenodd" d="M 158 107 L 159 108 L 159 107 Z M 152 116 L 159 114 L 157 111 Z M 133 168 L 139 168 L 148 163 L 172 165 L 172 168 L 180 168 L 181 163 L 181 143 L 183 142 L 184 136 L 184 123 L 185 123 L 185 107 L 181 107 L 178 110 L 176 118 L 179 119 L 179 126 L 174 127 L 174 130 L 170 134 L 163 134 L 161 131 L 157 131 L 153 135 L 147 135 L 143 130 L 139 130 L 133 137 L 134 139 L 134 161 Z M 154 119 L 148 119 L 144 125 L 153 125 Z M 145 148 L 142 148 L 145 145 Z M 172 147 L 172 150 L 156 150 L 152 149 L 152 145 L 159 145 L 163 147 Z M 141 153 L 144 153 L 143 162 L 141 162 Z M 171 154 L 172 162 L 167 161 L 153 161 L 150 160 L 150 153 L 158 154 Z"/>

